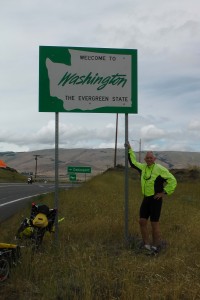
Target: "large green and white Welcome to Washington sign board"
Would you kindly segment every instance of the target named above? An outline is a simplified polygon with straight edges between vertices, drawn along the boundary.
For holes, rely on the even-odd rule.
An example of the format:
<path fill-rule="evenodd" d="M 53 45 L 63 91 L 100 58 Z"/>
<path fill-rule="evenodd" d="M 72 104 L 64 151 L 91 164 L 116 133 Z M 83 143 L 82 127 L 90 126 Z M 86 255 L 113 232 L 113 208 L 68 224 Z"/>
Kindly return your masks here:
<path fill-rule="evenodd" d="M 39 111 L 137 113 L 137 50 L 39 47 Z"/>

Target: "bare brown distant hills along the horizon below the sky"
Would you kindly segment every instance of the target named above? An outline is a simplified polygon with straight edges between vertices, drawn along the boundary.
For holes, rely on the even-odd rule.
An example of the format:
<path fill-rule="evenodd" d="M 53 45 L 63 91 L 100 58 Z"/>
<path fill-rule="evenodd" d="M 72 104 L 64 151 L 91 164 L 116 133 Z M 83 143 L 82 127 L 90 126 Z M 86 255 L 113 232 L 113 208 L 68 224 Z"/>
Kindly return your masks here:
<path fill-rule="evenodd" d="M 114 166 L 114 149 L 59 149 L 59 175 L 65 176 L 67 166 L 90 166 L 92 175 Z M 156 151 L 157 162 L 169 169 L 200 167 L 199 152 Z M 0 160 L 19 173 L 35 174 L 37 155 L 37 175 L 53 176 L 55 169 L 54 149 L 31 152 L 0 152 Z M 136 153 L 138 157 L 138 153 Z M 141 153 L 141 161 L 145 152 Z M 125 164 L 124 149 L 117 150 L 117 165 Z"/>

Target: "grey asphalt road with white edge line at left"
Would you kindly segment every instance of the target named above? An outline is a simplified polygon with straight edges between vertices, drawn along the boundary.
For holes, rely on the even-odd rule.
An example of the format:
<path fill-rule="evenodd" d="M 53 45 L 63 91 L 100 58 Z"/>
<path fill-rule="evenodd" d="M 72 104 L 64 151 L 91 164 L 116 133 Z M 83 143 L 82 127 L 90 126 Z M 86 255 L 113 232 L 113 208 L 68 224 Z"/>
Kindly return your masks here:
<path fill-rule="evenodd" d="M 59 188 L 69 189 L 72 184 L 60 184 Z M 55 185 L 50 183 L 0 183 L 0 222 L 19 212 L 35 196 L 52 193 Z"/>

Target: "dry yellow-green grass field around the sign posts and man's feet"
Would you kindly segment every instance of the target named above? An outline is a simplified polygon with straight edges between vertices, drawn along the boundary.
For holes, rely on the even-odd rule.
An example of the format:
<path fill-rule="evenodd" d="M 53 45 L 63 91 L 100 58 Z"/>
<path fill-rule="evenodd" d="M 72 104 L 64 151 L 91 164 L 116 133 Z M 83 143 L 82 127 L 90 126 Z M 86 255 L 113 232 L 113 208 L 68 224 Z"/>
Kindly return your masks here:
<path fill-rule="evenodd" d="M 53 206 L 53 195 L 38 202 Z M 129 233 L 139 235 L 138 179 L 129 181 Z M 23 215 L 29 215 L 27 208 Z M 200 299 L 200 186 L 178 182 L 164 200 L 161 231 L 166 251 L 136 254 L 124 237 L 124 173 L 109 171 L 59 195 L 58 241 L 46 236 L 39 253 L 22 248 L 22 263 L 0 287 L 0 299 Z M 22 213 L 1 224 L 13 242 Z M 3 296 L 4 295 L 4 296 Z M 1 298 L 4 297 L 4 298 Z"/>

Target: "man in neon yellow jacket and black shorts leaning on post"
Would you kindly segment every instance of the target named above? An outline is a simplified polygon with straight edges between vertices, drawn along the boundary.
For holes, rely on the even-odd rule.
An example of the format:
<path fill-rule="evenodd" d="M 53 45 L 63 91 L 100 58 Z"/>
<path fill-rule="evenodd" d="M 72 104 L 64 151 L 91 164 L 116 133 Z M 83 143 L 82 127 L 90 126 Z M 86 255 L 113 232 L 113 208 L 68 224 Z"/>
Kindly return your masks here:
<path fill-rule="evenodd" d="M 137 169 L 141 175 L 143 201 L 140 206 L 140 232 L 143 247 L 151 253 L 158 253 L 161 242 L 159 219 L 164 195 L 171 195 L 177 185 L 176 178 L 163 166 L 155 163 L 153 152 L 145 155 L 145 163 L 137 162 L 134 151 L 128 143 L 128 157 L 131 167 Z M 148 219 L 152 228 L 152 245 L 148 235 Z"/>

